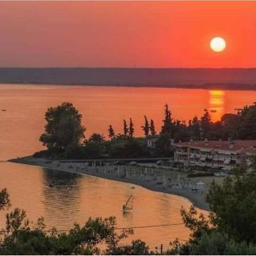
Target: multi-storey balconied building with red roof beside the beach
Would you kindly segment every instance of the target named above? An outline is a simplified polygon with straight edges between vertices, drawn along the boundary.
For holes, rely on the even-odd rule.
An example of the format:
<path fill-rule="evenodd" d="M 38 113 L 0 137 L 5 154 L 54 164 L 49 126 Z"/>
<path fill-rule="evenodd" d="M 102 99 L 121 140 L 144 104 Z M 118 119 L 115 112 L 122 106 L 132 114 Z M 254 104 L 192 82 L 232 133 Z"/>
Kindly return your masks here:
<path fill-rule="evenodd" d="M 256 155 L 256 141 L 190 141 L 175 143 L 174 160 L 184 167 L 229 171 L 248 167 Z"/>

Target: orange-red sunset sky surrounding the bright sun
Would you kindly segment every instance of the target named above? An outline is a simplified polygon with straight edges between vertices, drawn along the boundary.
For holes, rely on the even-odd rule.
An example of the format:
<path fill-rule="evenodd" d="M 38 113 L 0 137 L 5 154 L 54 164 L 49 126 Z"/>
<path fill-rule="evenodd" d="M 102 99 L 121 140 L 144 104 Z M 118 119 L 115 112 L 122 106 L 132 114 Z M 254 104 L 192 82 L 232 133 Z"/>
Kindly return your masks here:
<path fill-rule="evenodd" d="M 256 67 L 256 2 L 0 2 L 0 16 L 1 67 Z"/>

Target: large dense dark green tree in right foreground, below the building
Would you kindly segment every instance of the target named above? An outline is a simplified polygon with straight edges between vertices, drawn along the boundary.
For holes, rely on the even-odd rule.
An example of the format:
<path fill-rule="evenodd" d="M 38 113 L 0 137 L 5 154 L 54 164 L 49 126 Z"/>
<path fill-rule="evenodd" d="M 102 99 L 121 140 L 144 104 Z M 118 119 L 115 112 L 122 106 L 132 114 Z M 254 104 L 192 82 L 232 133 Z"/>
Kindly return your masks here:
<path fill-rule="evenodd" d="M 213 183 L 207 195 L 212 223 L 236 241 L 256 243 L 255 195 L 254 174 L 228 177 L 223 185 Z"/>

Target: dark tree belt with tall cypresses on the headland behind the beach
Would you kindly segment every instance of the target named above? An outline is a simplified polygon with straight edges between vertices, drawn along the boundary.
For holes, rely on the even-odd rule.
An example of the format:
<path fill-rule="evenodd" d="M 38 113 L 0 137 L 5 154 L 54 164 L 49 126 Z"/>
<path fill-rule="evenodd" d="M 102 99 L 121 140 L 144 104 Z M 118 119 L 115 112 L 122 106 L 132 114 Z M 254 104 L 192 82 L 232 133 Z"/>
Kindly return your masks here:
<path fill-rule="evenodd" d="M 144 115 L 141 129 L 144 137 L 134 137 L 134 123 L 123 119 L 123 133 L 116 134 L 109 125 L 108 139 L 93 133 L 85 138 L 82 115 L 69 102 L 48 108 L 45 131 L 40 141 L 47 150 L 36 152 L 36 158 L 54 159 L 108 159 L 108 158 L 152 158 L 171 157 L 172 142 L 189 140 L 256 139 L 256 104 L 244 106 L 236 114 L 224 114 L 220 121 L 213 122 L 208 110 L 202 117 L 193 117 L 186 123 L 172 117 L 171 110 L 164 106 L 163 126 L 156 133 L 154 120 Z M 155 146 L 148 147 L 147 140 L 155 139 Z"/>

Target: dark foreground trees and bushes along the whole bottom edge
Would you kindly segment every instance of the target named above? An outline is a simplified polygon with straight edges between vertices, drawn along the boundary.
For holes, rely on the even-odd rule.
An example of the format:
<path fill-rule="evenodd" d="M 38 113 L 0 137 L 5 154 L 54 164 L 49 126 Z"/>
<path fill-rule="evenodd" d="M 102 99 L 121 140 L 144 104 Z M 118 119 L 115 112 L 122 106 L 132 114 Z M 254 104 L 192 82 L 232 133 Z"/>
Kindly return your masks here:
<path fill-rule="evenodd" d="M 249 175 L 226 177 L 213 183 L 207 193 L 209 216 L 198 215 L 192 206 L 181 208 L 184 225 L 191 230 L 189 241 L 176 239 L 163 255 L 255 255 L 256 166 Z M 0 192 L 0 209 L 10 207 L 6 189 Z M 15 208 L 6 214 L 1 231 L 1 255 L 159 255 L 141 240 L 123 244 L 132 229 L 116 232 L 115 218 L 89 218 L 71 230 L 46 229 L 44 218 L 36 223 L 26 212 Z"/>

